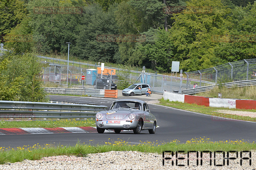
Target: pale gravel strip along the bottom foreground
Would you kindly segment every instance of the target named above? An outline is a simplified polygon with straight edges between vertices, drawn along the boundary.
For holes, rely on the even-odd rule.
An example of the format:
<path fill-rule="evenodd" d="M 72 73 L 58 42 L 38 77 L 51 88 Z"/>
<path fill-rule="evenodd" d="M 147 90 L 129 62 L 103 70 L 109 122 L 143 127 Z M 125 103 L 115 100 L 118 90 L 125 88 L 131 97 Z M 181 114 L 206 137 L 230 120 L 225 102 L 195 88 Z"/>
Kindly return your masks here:
<path fill-rule="evenodd" d="M 165 152 L 164 157 L 172 157 L 171 160 L 164 160 L 163 166 L 163 155 L 157 153 L 144 153 L 137 151 L 111 151 L 104 153 L 93 153 L 88 154 L 87 157 L 76 157 L 76 156 L 52 156 L 44 157 L 41 160 L 24 160 L 22 162 L 6 163 L 0 165 L 0 169 L 4 170 L 34 170 L 34 169 L 49 169 L 49 170 L 63 170 L 63 169 L 76 169 L 76 170 L 94 170 L 94 169 L 120 169 L 120 170 L 137 170 L 137 169 L 173 169 L 173 170 L 219 170 L 219 169 L 244 169 L 244 170 L 256 170 L 256 151 L 252 151 L 251 166 L 249 160 L 243 160 L 242 166 L 240 165 L 240 154 L 238 152 L 238 158 L 230 160 L 227 165 L 227 159 L 225 160 L 225 166 L 214 166 L 214 154 L 212 153 L 212 166 L 210 166 L 210 154 L 203 153 L 202 166 L 196 165 L 196 154 L 189 154 L 189 166 L 176 166 L 176 157 L 168 155 Z M 186 155 L 178 154 L 179 157 L 184 157 L 184 160 L 178 160 L 178 164 L 187 165 L 188 157 Z M 200 153 L 199 153 L 200 157 Z M 225 152 L 225 158 L 227 152 Z M 229 157 L 236 157 L 235 154 L 229 155 Z M 248 153 L 243 153 L 243 157 L 249 157 Z M 172 160 L 174 159 L 174 165 L 172 166 Z M 216 165 L 223 164 L 223 155 L 220 153 L 216 154 Z"/>

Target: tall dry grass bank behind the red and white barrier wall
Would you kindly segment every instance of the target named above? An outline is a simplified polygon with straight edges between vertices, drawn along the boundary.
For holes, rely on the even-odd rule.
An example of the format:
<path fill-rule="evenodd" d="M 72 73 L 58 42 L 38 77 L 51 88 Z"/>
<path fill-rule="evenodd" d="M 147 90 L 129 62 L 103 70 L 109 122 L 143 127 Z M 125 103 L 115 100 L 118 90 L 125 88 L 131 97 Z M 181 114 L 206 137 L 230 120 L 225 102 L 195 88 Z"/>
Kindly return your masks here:
<path fill-rule="evenodd" d="M 218 93 L 222 94 L 222 98 L 231 99 L 251 99 L 256 100 L 256 86 L 235 87 L 235 88 L 215 88 L 207 92 L 197 93 L 196 96 L 218 97 Z"/>

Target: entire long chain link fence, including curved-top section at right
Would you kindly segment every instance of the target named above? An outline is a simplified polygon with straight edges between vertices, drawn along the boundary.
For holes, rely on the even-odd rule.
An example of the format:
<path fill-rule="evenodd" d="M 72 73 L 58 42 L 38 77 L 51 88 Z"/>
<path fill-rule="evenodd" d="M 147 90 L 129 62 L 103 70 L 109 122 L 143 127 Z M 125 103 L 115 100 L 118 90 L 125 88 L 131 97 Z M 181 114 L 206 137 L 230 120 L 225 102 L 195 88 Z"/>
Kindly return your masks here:
<path fill-rule="evenodd" d="M 58 84 L 59 86 L 93 88 L 93 82 L 96 77 L 101 78 L 101 75 L 97 74 L 98 71 L 93 74 L 87 74 L 88 69 L 97 70 L 97 67 L 100 67 L 100 65 L 69 61 L 69 68 L 67 70 L 66 60 L 64 61 L 52 58 L 48 58 L 48 61 L 45 58 L 40 58 L 40 60 L 47 64 L 47 66 L 49 64 L 48 67 L 44 68 L 44 83 L 50 81 Z M 113 75 L 111 80 L 113 83 L 117 84 L 117 89 L 122 89 L 122 84 L 124 84 L 124 82 L 126 86 L 141 82 L 148 83 L 153 92 L 163 93 L 164 90 L 178 91 L 180 86 L 181 90 L 192 89 L 195 83 L 197 83 L 198 87 L 204 87 L 217 84 L 218 82 L 224 83 L 255 79 L 251 74 L 253 71 L 256 72 L 256 59 L 240 60 L 204 70 L 184 72 L 182 81 L 180 81 L 180 77 L 176 76 L 153 73 L 143 74 L 138 70 L 133 71 L 124 68 L 109 67 L 109 69 L 116 69 L 116 74 L 115 76 Z M 85 76 L 84 86 L 83 81 L 81 80 L 82 75 Z M 103 78 L 110 79 L 110 76 L 103 75 Z"/>

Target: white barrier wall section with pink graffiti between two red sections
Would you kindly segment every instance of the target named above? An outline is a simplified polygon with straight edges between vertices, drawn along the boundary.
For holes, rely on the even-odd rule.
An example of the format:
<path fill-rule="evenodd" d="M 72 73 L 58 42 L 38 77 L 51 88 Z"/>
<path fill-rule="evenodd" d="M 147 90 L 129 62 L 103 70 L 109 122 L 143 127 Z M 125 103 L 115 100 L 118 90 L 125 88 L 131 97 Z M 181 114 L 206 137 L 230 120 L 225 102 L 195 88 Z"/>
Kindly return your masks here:
<path fill-rule="evenodd" d="M 224 108 L 236 108 L 236 100 L 234 99 L 221 99 L 221 98 L 209 98 L 210 107 L 224 107 Z"/>

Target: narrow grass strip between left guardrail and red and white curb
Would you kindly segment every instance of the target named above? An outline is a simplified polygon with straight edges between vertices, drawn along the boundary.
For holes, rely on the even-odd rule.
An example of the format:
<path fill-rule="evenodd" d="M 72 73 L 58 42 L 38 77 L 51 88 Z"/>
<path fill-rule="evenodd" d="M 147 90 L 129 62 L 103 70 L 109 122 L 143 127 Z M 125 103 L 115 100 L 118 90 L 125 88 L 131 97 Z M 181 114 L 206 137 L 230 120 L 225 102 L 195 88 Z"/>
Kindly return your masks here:
<path fill-rule="evenodd" d="M 41 128 L 54 128 L 54 127 L 88 127 L 96 126 L 95 119 L 62 119 L 62 120 L 22 120 L 22 121 L 0 121 L 0 128 L 24 128 L 24 127 L 41 127 Z"/>

